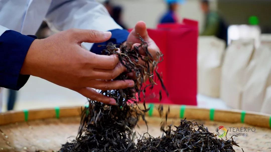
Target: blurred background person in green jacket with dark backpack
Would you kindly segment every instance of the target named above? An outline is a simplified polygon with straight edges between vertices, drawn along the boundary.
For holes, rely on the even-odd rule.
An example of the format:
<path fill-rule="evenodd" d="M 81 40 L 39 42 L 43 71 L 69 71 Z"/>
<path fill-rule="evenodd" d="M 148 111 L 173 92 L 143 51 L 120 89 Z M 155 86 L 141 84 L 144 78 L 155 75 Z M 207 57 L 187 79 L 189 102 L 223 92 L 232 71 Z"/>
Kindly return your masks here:
<path fill-rule="evenodd" d="M 217 12 L 210 9 L 209 0 L 201 1 L 201 9 L 205 15 L 204 30 L 201 35 L 214 35 L 227 42 L 228 27 L 224 19 Z"/>

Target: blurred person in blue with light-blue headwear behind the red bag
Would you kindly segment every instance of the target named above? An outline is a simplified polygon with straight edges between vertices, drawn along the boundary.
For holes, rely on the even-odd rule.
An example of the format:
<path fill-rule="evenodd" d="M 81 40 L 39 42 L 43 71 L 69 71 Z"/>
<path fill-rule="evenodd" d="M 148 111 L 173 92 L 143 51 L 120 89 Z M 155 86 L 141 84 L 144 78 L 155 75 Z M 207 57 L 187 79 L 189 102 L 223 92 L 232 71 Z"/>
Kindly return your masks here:
<path fill-rule="evenodd" d="M 183 0 L 166 0 L 167 12 L 162 16 L 159 23 L 178 23 L 178 8 Z"/>

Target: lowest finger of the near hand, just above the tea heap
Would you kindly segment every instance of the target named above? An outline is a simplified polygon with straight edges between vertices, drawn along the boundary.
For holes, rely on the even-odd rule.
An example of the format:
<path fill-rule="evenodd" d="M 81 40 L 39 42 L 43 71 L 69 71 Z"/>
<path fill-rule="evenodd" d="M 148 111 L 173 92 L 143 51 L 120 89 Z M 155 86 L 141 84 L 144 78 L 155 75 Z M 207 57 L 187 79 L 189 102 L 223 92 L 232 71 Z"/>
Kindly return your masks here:
<path fill-rule="evenodd" d="M 82 94 L 83 96 L 91 99 L 91 100 L 103 102 L 105 104 L 117 105 L 117 102 L 115 99 L 104 96 L 103 94 L 96 92 L 95 90 L 93 90 L 90 87 L 81 88 L 81 89 L 75 90 L 75 91 Z"/>

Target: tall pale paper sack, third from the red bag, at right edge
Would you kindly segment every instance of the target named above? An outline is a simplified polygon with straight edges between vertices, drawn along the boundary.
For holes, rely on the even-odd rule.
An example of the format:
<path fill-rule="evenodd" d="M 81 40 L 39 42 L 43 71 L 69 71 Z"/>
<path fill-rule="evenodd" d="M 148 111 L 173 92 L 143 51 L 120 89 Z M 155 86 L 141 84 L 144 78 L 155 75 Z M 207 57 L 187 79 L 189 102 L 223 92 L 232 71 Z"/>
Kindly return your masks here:
<path fill-rule="evenodd" d="M 268 92 L 266 88 L 271 85 L 271 38 L 262 37 L 261 45 L 256 50 L 253 60 L 254 70 L 244 85 L 241 108 L 255 112 L 267 111 L 270 107 L 262 106 L 265 96 L 267 100 L 269 96 L 266 94 Z"/>

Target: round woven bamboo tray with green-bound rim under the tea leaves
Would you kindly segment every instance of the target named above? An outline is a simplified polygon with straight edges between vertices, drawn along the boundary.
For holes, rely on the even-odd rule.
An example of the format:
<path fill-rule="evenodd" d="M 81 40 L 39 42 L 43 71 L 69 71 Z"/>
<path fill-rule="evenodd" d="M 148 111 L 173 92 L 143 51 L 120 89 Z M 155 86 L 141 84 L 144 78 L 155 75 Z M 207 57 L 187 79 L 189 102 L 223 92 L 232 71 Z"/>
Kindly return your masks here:
<path fill-rule="evenodd" d="M 151 110 L 147 113 L 149 133 L 161 136 L 158 105 L 149 104 Z M 168 105 L 164 105 L 167 109 Z M 24 110 L 0 114 L 0 151 L 57 151 L 61 144 L 75 138 L 80 122 L 81 107 L 65 107 L 55 109 Z M 268 114 L 245 112 L 240 110 L 201 109 L 194 106 L 170 105 L 168 124 L 179 125 L 181 118 L 195 120 L 204 124 L 210 132 L 215 133 L 218 126 L 227 129 L 250 127 L 255 131 L 233 132 L 242 133 L 235 141 L 239 147 L 236 151 L 271 151 L 271 116 Z M 140 134 L 147 131 L 143 121 L 140 128 L 135 128 Z M 223 137 L 225 139 L 225 137 Z"/>

